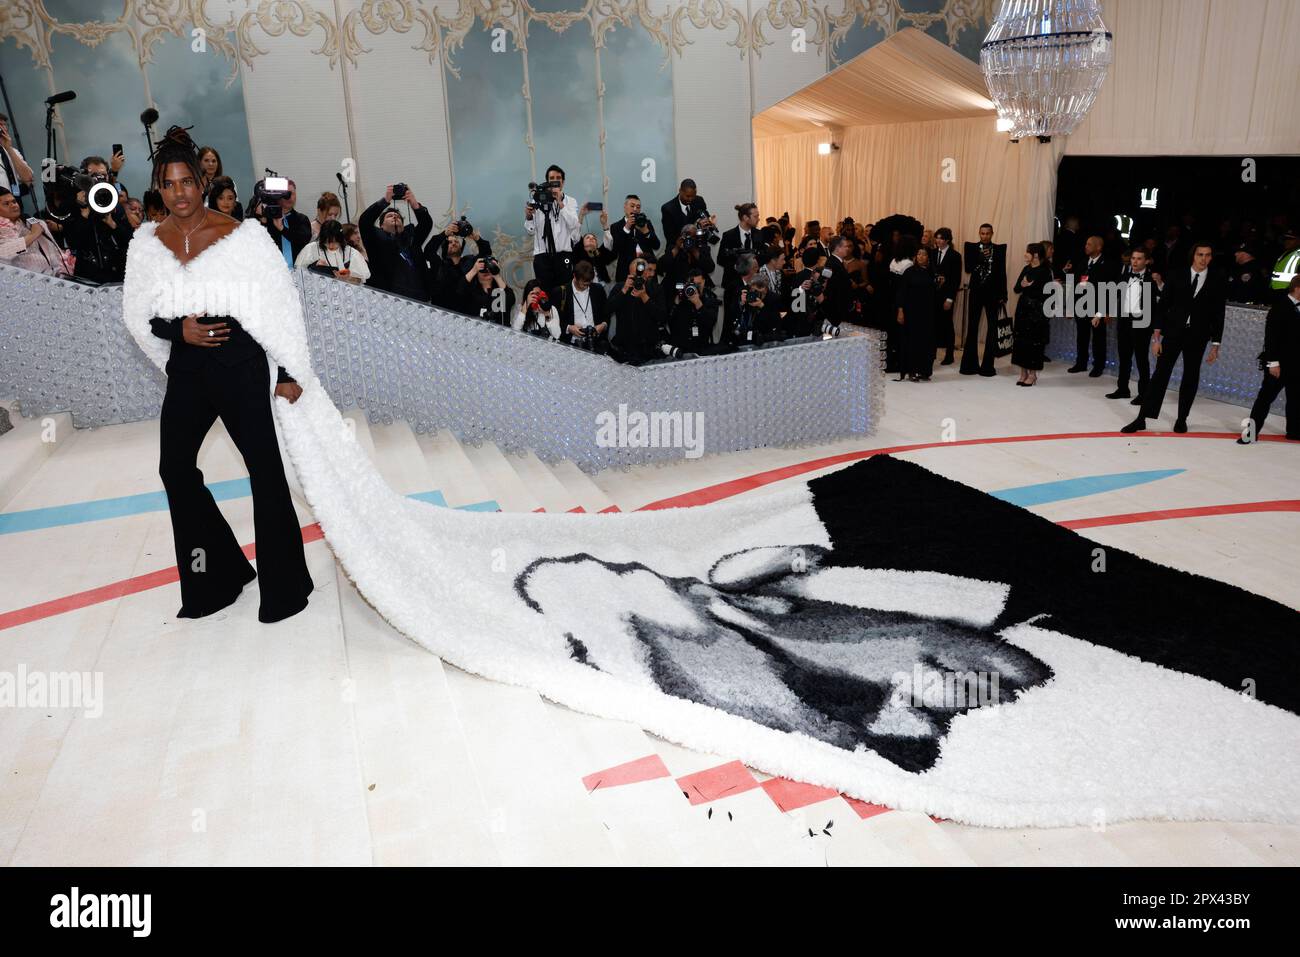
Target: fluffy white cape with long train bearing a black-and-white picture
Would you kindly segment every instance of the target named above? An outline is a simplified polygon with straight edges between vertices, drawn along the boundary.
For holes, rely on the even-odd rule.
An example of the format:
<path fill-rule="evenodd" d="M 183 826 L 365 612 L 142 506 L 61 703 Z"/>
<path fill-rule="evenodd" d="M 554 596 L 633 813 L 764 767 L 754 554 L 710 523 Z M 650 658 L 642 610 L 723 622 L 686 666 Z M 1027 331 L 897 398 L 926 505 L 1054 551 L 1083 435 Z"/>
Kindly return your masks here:
<path fill-rule="evenodd" d="M 1288 609 L 1115 550 L 1110 568 L 1134 581 L 1089 580 L 1072 562 L 1091 542 L 884 458 L 634 515 L 415 502 L 312 374 L 296 290 L 259 224 L 185 267 L 153 226 L 138 230 L 124 320 L 160 367 L 169 345 L 148 320 L 183 315 L 160 299 L 178 278 L 256 283 L 230 312 L 303 386 L 274 408 L 326 540 L 395 628 L 458 667 L 972 824 L 1300 819 Z M 1197 589 L 1223 606 L 1204 623 Z M 1161 602 L 1191 611 L 1162 619 Z M 954 675 L 997 681 L 958 701 L 933 680 Z"/>

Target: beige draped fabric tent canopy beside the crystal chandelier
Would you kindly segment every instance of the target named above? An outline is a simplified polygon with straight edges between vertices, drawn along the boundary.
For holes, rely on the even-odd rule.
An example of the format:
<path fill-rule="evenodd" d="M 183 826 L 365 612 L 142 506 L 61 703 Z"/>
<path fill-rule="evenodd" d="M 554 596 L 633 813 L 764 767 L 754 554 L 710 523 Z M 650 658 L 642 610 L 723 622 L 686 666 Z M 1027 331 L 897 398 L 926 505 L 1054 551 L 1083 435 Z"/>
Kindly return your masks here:
<path fill-rule="evenodd" d="M 1053 235 L 1065 142 L 1013 143 L 996 117 L 976 64 L 901 30 L 754 117 L 759 213 L 797 225 L 906 213 L 952 229 L 958 250 L 991 222 L 1014 283 L 1024 246 Z M 822 156 L 827 140 L 840 148 Z"/>

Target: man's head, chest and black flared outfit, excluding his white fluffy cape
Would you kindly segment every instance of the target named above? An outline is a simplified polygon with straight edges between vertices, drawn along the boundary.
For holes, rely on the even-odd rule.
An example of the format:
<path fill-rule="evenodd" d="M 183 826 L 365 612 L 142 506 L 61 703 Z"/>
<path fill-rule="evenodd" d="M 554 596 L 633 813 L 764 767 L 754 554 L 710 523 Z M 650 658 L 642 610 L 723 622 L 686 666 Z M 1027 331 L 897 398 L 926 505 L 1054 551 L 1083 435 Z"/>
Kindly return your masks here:
<path fill-rule="evenodd" d="M 152 159 L 153 187 L 161 191 L 169 213 L 155 238 L 182 265 L 238 229 L 259 229 L 203 204 L 198 152 L 181 127 L 168 130 Z M 256 276 L 233 272 L 222 280 L 255 282 Z M 150 325 L 155 335 L 172 342 L 159 417 L 159 475 L 172 512 L 181 576 L 177 616 L 204 618 L 220 611 L 254 577 L 260 577 L 259 620 L 280 622 L 298 614 L 307 607 L 313 584 L 276 442 L 266 352 L 230 316 L 153 317 Z M 303 393 L 283 368 L 274 391 L 289 402 Z M 248 467 L 257 571 L 198 468 L 199 447 L 218 416 Z"/>

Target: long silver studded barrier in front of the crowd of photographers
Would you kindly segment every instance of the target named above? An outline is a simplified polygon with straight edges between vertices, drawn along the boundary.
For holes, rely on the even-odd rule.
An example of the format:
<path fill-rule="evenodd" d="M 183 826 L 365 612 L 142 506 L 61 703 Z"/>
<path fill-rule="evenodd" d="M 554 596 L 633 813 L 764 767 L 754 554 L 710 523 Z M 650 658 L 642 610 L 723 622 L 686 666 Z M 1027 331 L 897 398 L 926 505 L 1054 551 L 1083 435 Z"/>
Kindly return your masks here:
<path fill-rule="evenodd" d="M 374 289 L 294 278 L 312 365 L 339 408 L 586 472 L 684 458 L 680 443 L 653 442 L 680 436 L 671 428 L 686 416 L 712 454 L 866 436 L 884 408 L 879 333 L 630 367 Z M 66 411 L 86 428 L 159 415 L 165 377 L 122 326 L 121 286 L 0 264 L 0 397 L 25 416 Z M 638 416 L 663 428 L 638 432 Z"/>

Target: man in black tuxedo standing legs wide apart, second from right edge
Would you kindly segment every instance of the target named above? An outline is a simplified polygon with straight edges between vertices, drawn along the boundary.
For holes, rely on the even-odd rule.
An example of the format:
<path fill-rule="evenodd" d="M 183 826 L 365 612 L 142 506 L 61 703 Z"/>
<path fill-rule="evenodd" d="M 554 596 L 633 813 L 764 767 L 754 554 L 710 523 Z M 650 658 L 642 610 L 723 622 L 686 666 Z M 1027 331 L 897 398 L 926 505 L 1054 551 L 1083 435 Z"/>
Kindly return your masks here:
<path fill-rule="evenodd" d="M 1150 350 L 1156 354 L 1156 373 L 1150 378 L 1141 412 L 1121 432 L 1141 432 L 1148 419 L 1160 417 L 1165 402 L 1169 377 L 1174 363 L 1183 356 L 1183 381 L 1178 389 L 1178 419 L 1174 432 L 1187 432 L 1187 413 L 1196 400 L 1201 382 L 1201 356 L 1209 343 L 1210 365 L 1218 361 L 1219 341 L 1223 338 L 1223 309 L 1227 306 L 1227 283 L 1222 274 L 1210 270 L 1214 247 L 1196 243 L 1192 247 L 1191 267 L 1176 268 L 1169 277 L 1154 276 L 1165 308 L 1156 322 Z"/>

